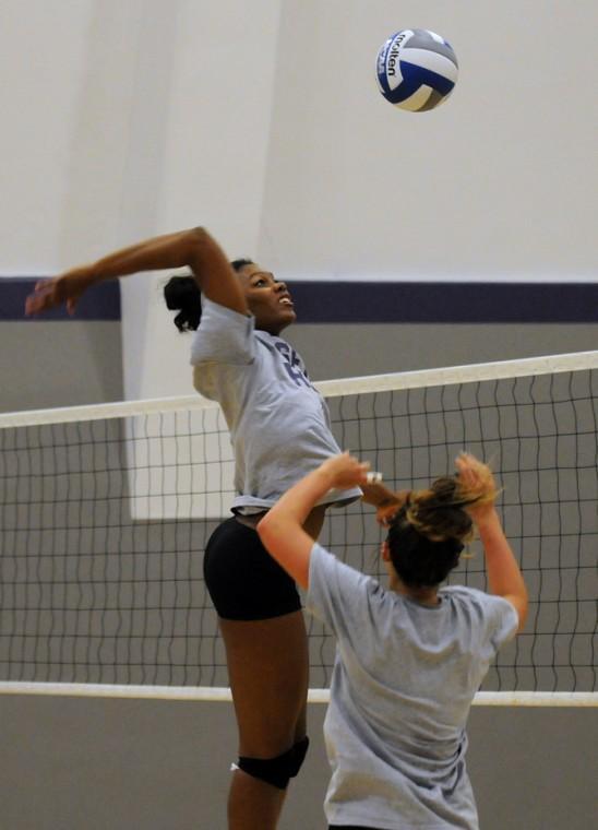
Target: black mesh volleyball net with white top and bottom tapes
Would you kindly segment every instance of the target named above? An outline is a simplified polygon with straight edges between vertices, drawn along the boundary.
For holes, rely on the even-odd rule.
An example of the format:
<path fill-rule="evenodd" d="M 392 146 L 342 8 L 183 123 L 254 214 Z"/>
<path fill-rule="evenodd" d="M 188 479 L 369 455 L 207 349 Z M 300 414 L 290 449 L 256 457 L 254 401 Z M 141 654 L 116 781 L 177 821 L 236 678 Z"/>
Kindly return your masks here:
<path fill-rule="evenodd" d="M 476 702 L 596 704 L 598 352 L 315 386 L 339 446 L 392 488 L 462 450 L 494 470 L 530 604 Z M 232 496 L 226 424 L 199 396 L 0 415 L 0 692 L 227 699 L 202 558 Z M 381 540 L 362 503 L 321 536 L 384 581 Z M 483 590 L 470 553 L 452 582 Z M 308 624 L 325 700 L 334 639 Z"/>

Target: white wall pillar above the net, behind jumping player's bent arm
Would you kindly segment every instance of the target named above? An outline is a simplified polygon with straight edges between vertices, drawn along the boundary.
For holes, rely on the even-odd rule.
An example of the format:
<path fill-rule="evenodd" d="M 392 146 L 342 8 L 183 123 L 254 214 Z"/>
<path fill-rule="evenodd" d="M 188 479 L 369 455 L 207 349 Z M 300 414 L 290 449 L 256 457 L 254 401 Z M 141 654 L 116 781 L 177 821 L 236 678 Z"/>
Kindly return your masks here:
<path fill-rule="evenodd" d="M 279 25 L 276 0 L 183 0 L 174 47 L 156 229 L 205 225 L 230 259 L 254 256 L 267 164 Z M 128 330 L 146 280 L 124 292 L 124 382 L 130 398 L 189 394 L 189 336 L 177 332 L 153 280 L 144 331 Z M 135 331 L 135 330 L 133 330 Z M 135 332 L 136 333 L 136 332 Z M 139 345 L 140 358 L 131 357 Z"/>

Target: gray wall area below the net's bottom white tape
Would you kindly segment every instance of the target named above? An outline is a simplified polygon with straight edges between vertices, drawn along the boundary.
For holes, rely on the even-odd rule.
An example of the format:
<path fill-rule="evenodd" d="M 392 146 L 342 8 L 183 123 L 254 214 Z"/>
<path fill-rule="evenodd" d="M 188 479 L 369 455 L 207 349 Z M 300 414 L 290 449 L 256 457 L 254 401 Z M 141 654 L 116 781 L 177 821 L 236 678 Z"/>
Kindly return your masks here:
<path fill-rule="evenodd" d="M 5 830 L 225 830 L 232 707 L 4 697 Z M 323 706 L 280 830 L 324 830 Z M 588 830 L 595 816 L 594 710 L 474 708 L 469 772 L 483 830 Z"/>

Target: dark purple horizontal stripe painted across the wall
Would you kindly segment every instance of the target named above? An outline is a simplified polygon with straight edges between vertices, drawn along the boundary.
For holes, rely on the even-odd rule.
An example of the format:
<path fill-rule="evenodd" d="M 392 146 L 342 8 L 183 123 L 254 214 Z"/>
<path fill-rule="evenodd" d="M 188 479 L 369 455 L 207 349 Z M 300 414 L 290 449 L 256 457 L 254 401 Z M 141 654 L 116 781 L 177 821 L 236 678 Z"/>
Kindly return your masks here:
<path fill-rule="evenodd" d="M 118 281 L 101 283 L 64 308 L 24 316 L 37 277 L 0 277 L 0 320 L 120 320 Z M 302 323 L 598 322 L 598 283 L 290 282 Z"/>

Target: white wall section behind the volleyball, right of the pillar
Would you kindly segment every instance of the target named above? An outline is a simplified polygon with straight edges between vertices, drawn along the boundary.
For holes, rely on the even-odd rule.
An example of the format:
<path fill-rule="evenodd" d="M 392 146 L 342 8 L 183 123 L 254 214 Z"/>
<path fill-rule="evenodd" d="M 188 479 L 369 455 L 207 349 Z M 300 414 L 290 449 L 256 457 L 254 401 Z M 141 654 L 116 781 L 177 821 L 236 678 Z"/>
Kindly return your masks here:
<path fill-rule="evenodd" d="M 284 8 L 260 256 L 339 275 L 596 273 L 598 4 Z M 374 90 L 379 46 L 409 26 L 459 60 L 434 112 Z"/>

